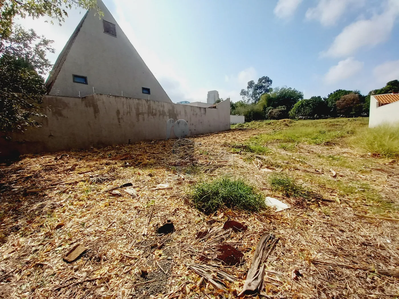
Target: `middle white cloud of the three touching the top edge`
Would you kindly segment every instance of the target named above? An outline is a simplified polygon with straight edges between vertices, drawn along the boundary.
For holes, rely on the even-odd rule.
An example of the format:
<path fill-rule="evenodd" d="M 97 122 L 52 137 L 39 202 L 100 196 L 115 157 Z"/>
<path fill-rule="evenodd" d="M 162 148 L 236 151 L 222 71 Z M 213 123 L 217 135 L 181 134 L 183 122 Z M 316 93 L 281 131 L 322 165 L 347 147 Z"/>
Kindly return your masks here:
<path fill-rule="evenodd" d="M 364 4 L 364 0 L 319 0 L 316 7 L 306 11 L 306 19 L 318 20 L 323 26 L 336 24 L 351 4 Z"/>

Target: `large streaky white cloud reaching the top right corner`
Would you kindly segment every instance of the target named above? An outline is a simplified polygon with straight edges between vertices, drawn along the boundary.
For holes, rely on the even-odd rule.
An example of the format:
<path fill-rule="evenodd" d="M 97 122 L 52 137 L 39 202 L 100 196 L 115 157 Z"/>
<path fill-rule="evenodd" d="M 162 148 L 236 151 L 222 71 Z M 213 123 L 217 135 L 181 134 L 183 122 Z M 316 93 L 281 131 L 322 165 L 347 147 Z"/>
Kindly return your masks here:
<path fill-rule="evenodd" d="M 344 57 L 361 47 L 372 47 L 386 41 L 399 15 L 399 1 L 388 0 L 386 4 L 382 14 L 346 26 L 322 56 Z"/>

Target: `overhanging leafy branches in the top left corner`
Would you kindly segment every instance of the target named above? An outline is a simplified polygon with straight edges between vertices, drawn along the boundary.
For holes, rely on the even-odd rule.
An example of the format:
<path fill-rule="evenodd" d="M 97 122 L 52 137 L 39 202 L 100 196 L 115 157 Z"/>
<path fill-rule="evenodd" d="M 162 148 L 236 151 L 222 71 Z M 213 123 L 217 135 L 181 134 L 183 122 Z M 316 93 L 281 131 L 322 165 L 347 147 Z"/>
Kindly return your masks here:
<path fill-rule="evenodd" d="M 49 16 L 61 23 L 68 16 L 67 9 L 73 6 L 90 9 L 96 4 L 97 0 L 0 0 L 0 39 L 8 39 L 12 35 L 16 17 L 36 19 Z"/>

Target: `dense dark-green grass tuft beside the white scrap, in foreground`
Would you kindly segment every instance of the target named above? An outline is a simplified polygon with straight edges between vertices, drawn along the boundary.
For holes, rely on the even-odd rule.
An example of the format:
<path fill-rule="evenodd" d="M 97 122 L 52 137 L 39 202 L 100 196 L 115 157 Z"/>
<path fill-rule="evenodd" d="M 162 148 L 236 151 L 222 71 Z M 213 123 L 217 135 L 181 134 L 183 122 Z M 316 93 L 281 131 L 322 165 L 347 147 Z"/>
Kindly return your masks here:
<path fill-rule="evenodd" d="M 257 193 L 242 179 L 228 177 L 210 183 L 198 183 L 192 192 L 195 207 L 204 212 L 214 212 L 222 207 L 230 209 L 259 211 L 266 207 L 265 197 Z"/>

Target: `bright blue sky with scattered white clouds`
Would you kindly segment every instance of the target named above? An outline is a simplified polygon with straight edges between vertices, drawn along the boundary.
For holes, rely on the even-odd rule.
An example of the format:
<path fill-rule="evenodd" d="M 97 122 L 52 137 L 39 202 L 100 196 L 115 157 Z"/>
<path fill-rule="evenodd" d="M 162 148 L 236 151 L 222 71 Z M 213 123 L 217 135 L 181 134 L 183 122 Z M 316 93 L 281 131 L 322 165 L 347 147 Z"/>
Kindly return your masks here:
<path fill-rule="evenodd" d="M 399 0 L 103 2 L 173 102 L 237 101 L 262 76 L 305 98 L 399 79 Z M 55 61 L 82 16 L 20 23 L 55 41 Z"/>

